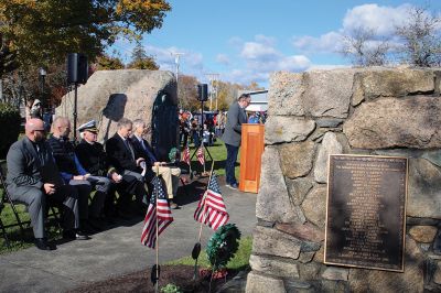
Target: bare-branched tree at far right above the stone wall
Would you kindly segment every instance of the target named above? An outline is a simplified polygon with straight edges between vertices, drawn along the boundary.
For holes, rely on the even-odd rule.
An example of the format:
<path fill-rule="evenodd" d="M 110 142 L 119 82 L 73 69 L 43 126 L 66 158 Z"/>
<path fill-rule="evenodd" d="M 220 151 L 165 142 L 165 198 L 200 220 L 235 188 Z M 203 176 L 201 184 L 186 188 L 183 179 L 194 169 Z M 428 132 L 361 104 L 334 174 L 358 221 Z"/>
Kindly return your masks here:
<path fill-rule="evenodd" d="M 422 67 L 441 65 L 441 18 L 433 17 L 426 8 L 412 8 L 409 15 L 406 24 L 396 28 L 402 40 L 401 61 Z"/>

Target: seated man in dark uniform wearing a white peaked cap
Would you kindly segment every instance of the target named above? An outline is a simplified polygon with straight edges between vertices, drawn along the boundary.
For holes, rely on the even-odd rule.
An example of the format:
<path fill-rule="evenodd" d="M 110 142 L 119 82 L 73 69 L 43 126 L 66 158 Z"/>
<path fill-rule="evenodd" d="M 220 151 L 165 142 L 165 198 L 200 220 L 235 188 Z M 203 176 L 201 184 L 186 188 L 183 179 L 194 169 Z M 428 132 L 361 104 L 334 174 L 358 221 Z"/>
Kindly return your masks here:
<path fill-rule="evenodd" d="M 75 154 L 84 170 L 90 174 L 87 180 L 95 182 L 97 193 L 106 194 L 104 211 L 106 216 L 110 216 L 115 199 L 114 184 L 121 182 L 122 176 L 117 173 L 115 167 L 109 165 L 103 144 L 97 142 L 98 129 L 95 120 L 84 123 L 78 128 L 78 131 L 82 141 L 75 146 Z M 93 205 L 90 213 L 99 215 L 101 213 L 99 207 L 98 205 Z"/>

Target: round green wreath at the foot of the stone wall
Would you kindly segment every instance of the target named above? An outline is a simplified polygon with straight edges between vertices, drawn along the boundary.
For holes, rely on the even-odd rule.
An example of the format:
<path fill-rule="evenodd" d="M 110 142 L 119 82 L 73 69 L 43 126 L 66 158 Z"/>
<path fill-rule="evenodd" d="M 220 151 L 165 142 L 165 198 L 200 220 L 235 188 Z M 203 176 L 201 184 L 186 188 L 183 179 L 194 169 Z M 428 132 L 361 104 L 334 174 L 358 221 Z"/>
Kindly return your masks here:
<path fill-rule="evenodd" d="M 213 271 L 224 268 L 239 248 L 240 231 L 235 224 L 217 229 L 207 243 L 206 253 Z"/>

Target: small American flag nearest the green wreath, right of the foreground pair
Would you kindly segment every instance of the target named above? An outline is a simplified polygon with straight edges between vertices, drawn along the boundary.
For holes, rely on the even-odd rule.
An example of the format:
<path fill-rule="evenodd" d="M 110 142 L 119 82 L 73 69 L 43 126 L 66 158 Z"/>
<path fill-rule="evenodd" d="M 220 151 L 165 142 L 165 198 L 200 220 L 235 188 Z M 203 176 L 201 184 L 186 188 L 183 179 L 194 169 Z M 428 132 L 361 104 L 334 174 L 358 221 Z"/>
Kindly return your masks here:
<path fill-rule="evenodd" d="M 229 220 L 219 184 L 217 182 L 216 174 L 212 174 L 212 178 L 208 183 L 208 188 L 205 192 L 205 197 L 202 198 L 194 211 L 194 219 L 208 225 L 213 230 L 217 230 L 220 226 L 225 225 Z"/>

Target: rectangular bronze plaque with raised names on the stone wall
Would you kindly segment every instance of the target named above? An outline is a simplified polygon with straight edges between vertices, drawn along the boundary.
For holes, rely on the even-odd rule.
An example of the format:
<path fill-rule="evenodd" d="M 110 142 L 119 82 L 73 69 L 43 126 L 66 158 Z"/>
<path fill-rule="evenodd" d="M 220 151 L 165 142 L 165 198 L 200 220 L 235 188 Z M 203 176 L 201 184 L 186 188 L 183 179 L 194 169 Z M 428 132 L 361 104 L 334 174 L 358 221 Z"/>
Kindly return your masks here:
<path fill-rule="evenodd" d="M 407 159 L 330 155 L 324 262 L 404 271 Z"/>

